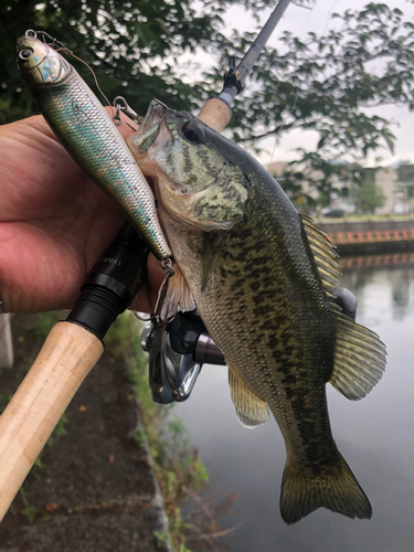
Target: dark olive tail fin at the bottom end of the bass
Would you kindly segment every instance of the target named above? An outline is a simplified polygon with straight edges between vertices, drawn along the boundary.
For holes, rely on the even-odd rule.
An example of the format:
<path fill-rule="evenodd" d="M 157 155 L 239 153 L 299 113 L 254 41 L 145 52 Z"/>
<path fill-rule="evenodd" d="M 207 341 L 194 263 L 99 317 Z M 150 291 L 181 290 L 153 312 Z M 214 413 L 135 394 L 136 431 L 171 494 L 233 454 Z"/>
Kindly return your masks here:
<path fill-rule="evenodd" d="M 318 508 L 348 518 L 371 519 L 372 509 L 350 467 L 338 453 L 338 463 L 315 476 L 288 460 L 282 480 L 280 514 L 291 526 Z"/>

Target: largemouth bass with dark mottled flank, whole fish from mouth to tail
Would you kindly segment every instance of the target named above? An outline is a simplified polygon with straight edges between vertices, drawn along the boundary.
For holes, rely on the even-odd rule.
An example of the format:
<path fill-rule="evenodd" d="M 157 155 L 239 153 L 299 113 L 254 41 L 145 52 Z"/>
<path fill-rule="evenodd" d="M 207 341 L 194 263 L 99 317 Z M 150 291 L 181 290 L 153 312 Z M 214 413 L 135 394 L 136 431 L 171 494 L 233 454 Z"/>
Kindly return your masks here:
<path fill-rule="evenodd" d="M 327 234 L 252 156 L 187 113 L 152 102 L 129 147 L 155 181 L 183 275 L 172 295 L 181 308 L 194 299 L 224 352 L 238 420 L 255 427 L 270 408 L 280 427 L 283 519 L 320 507 L 370 518 L 331 434 L 326 383 L 361 399 L 382 376 L 385 347 L 333 302 L 339 265 Z"/>

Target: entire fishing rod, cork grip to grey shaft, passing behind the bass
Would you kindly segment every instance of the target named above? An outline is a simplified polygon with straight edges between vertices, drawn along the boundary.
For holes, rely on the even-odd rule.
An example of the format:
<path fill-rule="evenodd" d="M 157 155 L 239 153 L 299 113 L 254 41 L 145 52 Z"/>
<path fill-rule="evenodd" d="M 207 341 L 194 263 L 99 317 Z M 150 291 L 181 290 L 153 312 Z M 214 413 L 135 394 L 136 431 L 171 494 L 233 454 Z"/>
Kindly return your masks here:
<path fill-rule="evenodd" d="M 241 92 L 245 77 L 290 1 L 279 1 L 241 64 L 235 70 L 231 66 L 226 73 L 223 91 L 201 108 L 199 118 L 219 132 L 229 124 L 233 98 Z M 129 238 L 120 243 L 126 244 Z M 128 247 L 125 246 L 125 252 Z M 144 250 L 138 251 L 136 247 L 134 253 L 126 253 L 123 261 L 126 268 L 134 254 L 139 256 L 140 266 L 146 265 Z M 87 288 L 83 286 L 68 319 L 52 328 L 32 368 L 0 416 L 0 521 L 72 397 L 99 360 L 104 351 L 102 339 L 125 310 L 128 294 L 134 297 L 134 286 L 139 287 L 144 282 L 137 278 L 128 288 L 123 282 L 117 286 L 113 273 L 100 274 L 102 277 L 97 273 L 89 273 L 84 284 Z M 120 295 L 116 297 L 117 294 Z"/>

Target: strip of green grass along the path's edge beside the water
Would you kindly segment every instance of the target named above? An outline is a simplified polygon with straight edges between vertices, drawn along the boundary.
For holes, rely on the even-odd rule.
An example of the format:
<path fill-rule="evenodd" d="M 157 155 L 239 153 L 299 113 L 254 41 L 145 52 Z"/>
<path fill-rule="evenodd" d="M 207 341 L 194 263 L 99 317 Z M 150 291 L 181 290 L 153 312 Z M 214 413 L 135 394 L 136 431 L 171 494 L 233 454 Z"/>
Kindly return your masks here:
<path fill-rule="evenodd" d="M 134 438 L 138 445 L 148 443 L 155 474 L 164 497 L 172 546 L 176 552 L 195 550 L 219 551 L 219 539 L 225 532 L 216 522 L 217 513 L 225 514 L 235 493 L 213 508 L 199 495 L 209 480 L 199 452 L 191 445 L 191 435 L 183 422 L 173 416 L 173 405 L 152 401 L 148 383 L 148 354 L 140 346 L 144 329 L 131 312 L 118 317 L 105 339 L 107 349 L 128 363 L 128 379 L 138 399 L 142 426 Z M 183 516 L 183 507 L 193 501 L 194 508 Z M 158 533 L 159 544 L 168 535 Z M 189 548 L 191 545 L 191 549 Z"/>

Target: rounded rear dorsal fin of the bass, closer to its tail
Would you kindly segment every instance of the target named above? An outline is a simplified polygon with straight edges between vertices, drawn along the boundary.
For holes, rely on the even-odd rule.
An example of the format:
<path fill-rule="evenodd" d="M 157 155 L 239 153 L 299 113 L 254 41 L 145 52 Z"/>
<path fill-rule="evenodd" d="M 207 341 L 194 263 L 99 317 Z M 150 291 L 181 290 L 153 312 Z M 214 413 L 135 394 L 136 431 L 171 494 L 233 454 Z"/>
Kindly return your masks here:
<path fill-rule="evenodd" d="M 373 331 L 336 312 L 337 341 L 329 379 L 336 390 L 351 401 L 364 397 L 382 378 L 386 350 Z"/>

